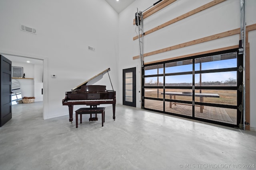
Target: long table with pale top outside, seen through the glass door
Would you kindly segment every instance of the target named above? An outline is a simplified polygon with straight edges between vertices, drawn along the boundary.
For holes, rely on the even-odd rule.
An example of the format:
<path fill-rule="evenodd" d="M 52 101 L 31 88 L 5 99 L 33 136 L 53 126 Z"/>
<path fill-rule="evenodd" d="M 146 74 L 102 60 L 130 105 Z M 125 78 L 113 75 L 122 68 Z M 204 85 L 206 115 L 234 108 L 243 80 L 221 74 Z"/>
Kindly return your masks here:
<path fill-rule="evenodd" d="M 161 93 L 164 94 L 164 93 Z M 192 96 L 192 92 L 165 92 L 166 95 L 170 95 L 170 99 L 176 99 L 176 96 Z M 200 102 L 204 102 L 204 98 L 220 98 L 218 94 L 211 93 L 195 93 L 195 97 L 200 97 Z M 174 103 L 176 106 L 176 103 Z M 170 102 L 170 108 L 172 108 L 172 102 Z M 200 106 L 200 112 L 203 113 L 203 106 Z"/>

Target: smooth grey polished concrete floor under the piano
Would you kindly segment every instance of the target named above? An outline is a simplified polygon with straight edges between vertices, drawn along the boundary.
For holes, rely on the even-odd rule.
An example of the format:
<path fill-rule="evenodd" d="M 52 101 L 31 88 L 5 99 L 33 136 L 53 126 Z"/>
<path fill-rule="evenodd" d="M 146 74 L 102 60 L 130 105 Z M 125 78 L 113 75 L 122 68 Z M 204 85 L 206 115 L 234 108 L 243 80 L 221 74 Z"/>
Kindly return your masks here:
<path fill-rule="evenodd" d="M 43 120 L 42 102 L 14 105 L 12 113 L 0 127 L 1 170 L 256 169 L 254 131 L 122 105 L 116 121 L 106 107 L 104 127 L 101 116 L 83 115 L 78 128 L 68 116 Z"/>

